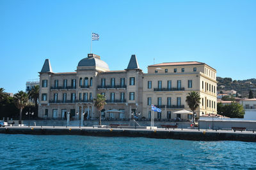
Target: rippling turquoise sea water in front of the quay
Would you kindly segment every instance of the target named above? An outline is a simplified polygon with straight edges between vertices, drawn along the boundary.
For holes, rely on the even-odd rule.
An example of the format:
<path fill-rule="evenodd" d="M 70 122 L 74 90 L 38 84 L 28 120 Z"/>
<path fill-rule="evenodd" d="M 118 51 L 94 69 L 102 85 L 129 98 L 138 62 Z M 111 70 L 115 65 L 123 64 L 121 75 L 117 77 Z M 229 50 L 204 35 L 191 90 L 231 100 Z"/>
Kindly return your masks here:
<path fill-rule="evenodd" d="M 256 143 L 0 134 L 0 169 L 256 169 Z"/>

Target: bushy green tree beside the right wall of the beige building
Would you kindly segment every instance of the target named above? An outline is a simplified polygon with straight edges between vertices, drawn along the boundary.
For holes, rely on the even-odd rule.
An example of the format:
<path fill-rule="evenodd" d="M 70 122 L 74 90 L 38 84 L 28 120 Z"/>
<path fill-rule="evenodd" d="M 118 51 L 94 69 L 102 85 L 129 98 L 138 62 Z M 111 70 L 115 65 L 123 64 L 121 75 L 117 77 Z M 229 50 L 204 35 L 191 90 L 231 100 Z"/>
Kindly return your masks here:
<path fill-rule="evenodd" d="M 243 118 L 244 108 L 242 104 L 234 103 L 223 105 L 222 103 L 217 104 L 217 111 L 219 115 L 230 118 Z"/>

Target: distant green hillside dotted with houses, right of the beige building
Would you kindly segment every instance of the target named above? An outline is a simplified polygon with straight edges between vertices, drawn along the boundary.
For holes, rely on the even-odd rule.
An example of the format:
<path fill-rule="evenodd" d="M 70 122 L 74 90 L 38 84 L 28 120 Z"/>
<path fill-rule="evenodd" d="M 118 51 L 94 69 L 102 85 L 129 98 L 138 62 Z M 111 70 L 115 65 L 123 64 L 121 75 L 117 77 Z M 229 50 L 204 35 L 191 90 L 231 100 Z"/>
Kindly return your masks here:
<path fill-rule="evenodd" d="M 252 90 L 253 96 L 256 95 L 256 78 L 248 80 L 232 80 L 232 78 L 217 77 L 217 90 L 236 90 L 242 97 L 248 97 L 249 90 Z"/>

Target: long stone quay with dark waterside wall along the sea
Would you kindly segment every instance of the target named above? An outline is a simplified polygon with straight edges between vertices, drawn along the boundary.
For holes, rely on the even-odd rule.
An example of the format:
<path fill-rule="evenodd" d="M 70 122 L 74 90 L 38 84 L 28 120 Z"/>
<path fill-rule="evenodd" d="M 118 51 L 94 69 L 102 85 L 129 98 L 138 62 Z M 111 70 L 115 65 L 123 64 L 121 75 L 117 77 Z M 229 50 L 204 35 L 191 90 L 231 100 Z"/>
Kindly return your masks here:
<path fill-rule="evenodd" d="M 0 127 L 2 134 L 35 135 L 85 135 L 108 137 L 145 137 L 159 139 L 184 139 L 193 141 L 250 141 L 256 142 L 256 132 L 252 131 L 212 131 L 210 129 L 128 129 L 128 128 L 93 128 L 63 126 L 6 126 Z"/>

